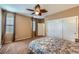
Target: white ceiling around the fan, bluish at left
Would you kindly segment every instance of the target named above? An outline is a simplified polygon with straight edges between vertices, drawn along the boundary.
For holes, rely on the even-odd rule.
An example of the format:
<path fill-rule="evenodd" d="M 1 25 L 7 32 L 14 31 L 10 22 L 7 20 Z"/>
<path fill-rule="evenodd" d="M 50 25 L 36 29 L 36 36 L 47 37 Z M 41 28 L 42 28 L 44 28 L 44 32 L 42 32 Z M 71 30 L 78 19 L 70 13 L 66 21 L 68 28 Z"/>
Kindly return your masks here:
<path fill-rule="evenodd" d="M 67 10 L 69 8 L 79 6 L 78 4 L 40 4 L 40 5 L 41 8 L 45 8 L 46 10 L 48 10 L 48 12 L 44 13 L 42 16 L 31 15 L 32 12 L 26 10 L 27 8 L 34 9 L 35 4 L 0 4 L 0 7 L 8 11 L 20 13 L 26 16 L 32 16 L 32 17 L 34 16 L 42 18 L 63 10 Z"/>

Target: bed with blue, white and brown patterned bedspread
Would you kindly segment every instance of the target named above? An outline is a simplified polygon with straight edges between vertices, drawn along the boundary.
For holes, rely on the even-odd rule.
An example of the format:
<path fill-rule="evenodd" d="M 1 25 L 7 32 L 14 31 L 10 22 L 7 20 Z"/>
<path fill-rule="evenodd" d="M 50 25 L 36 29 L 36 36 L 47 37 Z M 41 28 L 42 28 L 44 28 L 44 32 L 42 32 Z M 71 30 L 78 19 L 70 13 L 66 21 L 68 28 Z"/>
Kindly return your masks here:
<path fill-rule="evenodd" d="M 43 37 L 29 43 L 29 54 L 74 54 L 79 53 L 79 43 L 64 39 Z"/>

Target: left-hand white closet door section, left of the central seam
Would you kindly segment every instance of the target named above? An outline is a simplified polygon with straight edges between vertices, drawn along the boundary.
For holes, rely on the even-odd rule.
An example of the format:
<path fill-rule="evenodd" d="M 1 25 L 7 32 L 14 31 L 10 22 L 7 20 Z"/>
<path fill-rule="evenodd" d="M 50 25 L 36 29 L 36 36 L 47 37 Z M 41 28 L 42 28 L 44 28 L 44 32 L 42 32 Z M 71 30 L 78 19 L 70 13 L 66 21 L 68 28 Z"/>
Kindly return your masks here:
<path fill-rule="evenodd" d="M 54 37 L 55 39 L 62 39 L 62 20 L 50 20 L 46 22 L 47 36 Z"/>

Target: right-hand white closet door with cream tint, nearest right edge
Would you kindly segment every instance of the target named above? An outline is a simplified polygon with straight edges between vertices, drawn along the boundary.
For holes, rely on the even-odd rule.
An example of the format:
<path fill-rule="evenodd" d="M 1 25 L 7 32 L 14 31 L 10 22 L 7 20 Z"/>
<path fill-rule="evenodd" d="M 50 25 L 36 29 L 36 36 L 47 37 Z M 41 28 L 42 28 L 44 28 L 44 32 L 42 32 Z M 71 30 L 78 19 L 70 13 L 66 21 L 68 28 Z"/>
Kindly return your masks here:
<path fill-rule="evenodd" d="M 63 39 L 75 42 L 76 38 L 78 38 L 77 17 L 63 18 Z"/>

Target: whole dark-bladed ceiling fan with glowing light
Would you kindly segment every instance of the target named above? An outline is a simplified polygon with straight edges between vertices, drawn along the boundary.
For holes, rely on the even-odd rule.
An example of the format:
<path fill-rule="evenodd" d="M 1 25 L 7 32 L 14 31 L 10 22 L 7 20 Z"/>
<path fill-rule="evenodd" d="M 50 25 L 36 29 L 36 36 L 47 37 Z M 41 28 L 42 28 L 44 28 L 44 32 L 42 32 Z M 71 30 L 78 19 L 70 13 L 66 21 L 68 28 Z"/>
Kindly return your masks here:
<path fill-rule="evenodd" d="M 33 10 L 33 9 L 27 9 L 27 10 L 33 12 L 31 15 L 36 14 L 36 15 L 39 15 L 39 16 L 41 16 L 42 13 L 48 12 L 46 9 L 41 9 L 41 7 L 40 7 L 39 4 L 37 4 L 37 5 L 34 7 L 34 10 Z"/>

